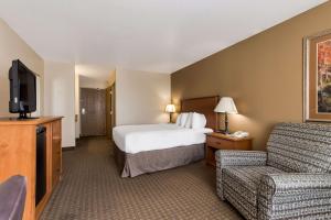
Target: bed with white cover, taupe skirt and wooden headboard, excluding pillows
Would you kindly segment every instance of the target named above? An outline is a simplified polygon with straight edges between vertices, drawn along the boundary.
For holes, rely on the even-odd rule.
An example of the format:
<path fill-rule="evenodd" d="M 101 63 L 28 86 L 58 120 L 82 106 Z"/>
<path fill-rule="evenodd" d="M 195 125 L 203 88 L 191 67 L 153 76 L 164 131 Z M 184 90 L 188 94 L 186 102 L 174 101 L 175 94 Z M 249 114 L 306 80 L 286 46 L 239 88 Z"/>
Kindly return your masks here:
<path fill-rule="evenodd" d="M 203 160 L 205 133 L 217 125 L 217 114 L 213 111 L 217 102 L 217 96 L 181 101 L 181 112 L 205 116 L 205 129 L 185 129 L 175 124 L 115 128 L 114 153 L 121 177 L 135 177 Z"/>

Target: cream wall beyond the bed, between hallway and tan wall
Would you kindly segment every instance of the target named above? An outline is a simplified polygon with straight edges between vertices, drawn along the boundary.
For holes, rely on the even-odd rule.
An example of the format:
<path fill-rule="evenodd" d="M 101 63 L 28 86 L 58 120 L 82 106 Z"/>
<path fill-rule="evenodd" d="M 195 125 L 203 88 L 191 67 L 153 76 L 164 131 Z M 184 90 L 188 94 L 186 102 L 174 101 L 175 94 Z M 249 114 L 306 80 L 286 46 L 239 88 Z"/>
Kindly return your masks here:
<path fill-rule="evenodd" d="M 170 76 L 116 69 L 116 125 L 168 122 Z"/>

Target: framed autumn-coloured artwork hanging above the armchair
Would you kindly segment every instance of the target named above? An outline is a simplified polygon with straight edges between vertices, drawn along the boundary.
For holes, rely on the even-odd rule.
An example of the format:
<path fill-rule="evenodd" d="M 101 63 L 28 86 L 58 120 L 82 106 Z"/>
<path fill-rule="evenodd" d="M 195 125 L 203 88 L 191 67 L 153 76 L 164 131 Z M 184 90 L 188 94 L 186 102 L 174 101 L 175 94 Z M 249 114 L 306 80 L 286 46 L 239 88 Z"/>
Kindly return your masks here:
<path fill-rule="evenodd" d="M 331 30 L 303 38 L 305 121 L 331 122 Z"/>

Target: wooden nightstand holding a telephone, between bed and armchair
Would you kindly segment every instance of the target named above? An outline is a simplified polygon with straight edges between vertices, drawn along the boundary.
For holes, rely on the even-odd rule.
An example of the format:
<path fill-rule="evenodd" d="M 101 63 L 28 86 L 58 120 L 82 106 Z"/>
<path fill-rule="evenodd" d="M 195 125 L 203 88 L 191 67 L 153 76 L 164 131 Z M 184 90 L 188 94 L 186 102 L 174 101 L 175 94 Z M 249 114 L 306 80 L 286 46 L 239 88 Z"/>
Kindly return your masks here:
<path fill-rule="evenodd" d="M 252 150 L 252 138 L 232 138 L 222 133 L 210 133 L 206 135 L 205 161 L 207 165 L 216 166 L 215 151 L 217 150 Z"/>

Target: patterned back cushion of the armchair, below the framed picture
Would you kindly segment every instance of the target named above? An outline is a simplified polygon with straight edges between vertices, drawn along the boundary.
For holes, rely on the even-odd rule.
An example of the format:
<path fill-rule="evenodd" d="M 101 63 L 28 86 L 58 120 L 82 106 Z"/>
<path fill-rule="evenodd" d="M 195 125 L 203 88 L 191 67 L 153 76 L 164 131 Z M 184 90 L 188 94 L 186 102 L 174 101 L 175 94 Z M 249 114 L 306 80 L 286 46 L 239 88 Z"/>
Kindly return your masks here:
<path fill-rule="evenodd" d="M 331 173 L 331 125 L 279 123 L 267 152 L 267 164 L 285 172 Z"/>

